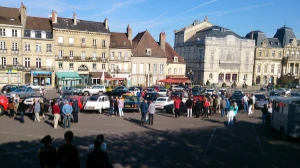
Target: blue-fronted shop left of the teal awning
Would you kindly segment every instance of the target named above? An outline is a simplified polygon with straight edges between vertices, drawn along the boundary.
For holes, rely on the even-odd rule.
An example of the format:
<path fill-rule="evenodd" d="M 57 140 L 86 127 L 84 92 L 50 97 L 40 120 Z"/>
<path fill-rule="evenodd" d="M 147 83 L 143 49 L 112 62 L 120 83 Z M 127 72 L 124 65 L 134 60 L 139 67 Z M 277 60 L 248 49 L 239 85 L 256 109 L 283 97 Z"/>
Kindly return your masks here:
<path fill-rule="evenodd" d="M 32 84 L 40 86 L 52 85 L 52 71 L 31 71 Z"/>

